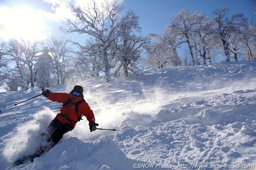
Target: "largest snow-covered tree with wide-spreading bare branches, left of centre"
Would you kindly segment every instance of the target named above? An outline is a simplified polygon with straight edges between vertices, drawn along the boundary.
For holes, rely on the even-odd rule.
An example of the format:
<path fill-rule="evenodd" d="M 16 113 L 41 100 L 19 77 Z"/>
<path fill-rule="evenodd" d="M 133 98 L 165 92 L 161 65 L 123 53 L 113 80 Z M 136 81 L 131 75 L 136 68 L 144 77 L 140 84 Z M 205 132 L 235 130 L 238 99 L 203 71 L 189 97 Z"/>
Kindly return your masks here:
<path fill-rule="evenodd" d="M 127 12 L 122 15 L 123 7 L 118 1 L 105 1 L 97 6 L 93 1 L 87 7 L 72 7 L 77 21 L 68 20 L 69 29 L 66 32 L 78 32 L 87 34 L 94 39 L 87 43 L 87 46 L 74 42 L 81 48 L 82 53 L 89 53 L 93 56 L 96 64 L 105 73 L 107 82 L 110 81 L 110 69 L 115 67 L 117 62 L 115 54 L 115 41 L 127 36 L 126 28 L 136 28 L 136 17 L 134 13 Z"/>

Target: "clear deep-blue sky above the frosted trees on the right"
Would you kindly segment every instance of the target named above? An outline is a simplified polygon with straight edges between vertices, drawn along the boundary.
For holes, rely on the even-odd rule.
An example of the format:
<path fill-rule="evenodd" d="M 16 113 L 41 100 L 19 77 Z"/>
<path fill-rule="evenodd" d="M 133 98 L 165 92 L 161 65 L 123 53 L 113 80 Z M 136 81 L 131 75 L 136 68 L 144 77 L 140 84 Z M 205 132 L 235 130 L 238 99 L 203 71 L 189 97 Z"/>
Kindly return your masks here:
<path fill-rule="evenodd" d="M 144 34 L 157 34 L 169 24 L 170 15 L 173 16 L 184 8 L 193 12 L 198 10 L 213 19 L 215 16 L 212 11 L 227 5 L 231 9 L 229 16 L 244 13 L 244 17 L 251 19 L 254 16 L 256 0 L 124 0 L 122 5 L 140 16 L 140 26 Z"/>

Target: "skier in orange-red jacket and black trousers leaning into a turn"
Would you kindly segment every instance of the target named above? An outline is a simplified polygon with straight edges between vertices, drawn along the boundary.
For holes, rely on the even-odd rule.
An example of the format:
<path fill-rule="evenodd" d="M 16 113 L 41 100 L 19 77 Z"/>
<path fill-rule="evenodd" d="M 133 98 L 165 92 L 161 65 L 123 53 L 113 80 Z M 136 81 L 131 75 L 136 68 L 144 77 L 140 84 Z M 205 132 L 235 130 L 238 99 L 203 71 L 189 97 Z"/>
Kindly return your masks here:
<path fill-rule="evenodd" d="M 63 103 L 60 113 L 51 121 L 47 130 L 43 135 L 45 141 L 42 147 L 33 155 L 25 155 L 13 163 L 13 167 L 23 164 L 26 160 L 34 161 L 34 158 L 41 156 L 43 153 L 53 148 L 69 131 L 72 131 L 82 116 L 86 116 L 89 121 L 90 131 L 95 131 L 99 124 L 95 123 L 94 113 L 90 109 L 88 103 L 83 98 L 83 88 L 75 86 L 70 93 L 52 93 L 46 89 L 42 91 L 42 95 L 53 102 Z"/>

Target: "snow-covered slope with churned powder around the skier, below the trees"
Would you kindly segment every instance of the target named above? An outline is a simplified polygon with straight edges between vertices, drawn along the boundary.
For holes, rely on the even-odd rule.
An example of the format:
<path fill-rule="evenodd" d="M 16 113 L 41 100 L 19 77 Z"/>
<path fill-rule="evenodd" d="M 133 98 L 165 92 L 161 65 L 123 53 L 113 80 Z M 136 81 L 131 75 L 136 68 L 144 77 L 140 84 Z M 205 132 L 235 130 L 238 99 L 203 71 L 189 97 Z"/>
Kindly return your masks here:
<path fill-rule="evenodd" d="M 97 77 L 50 87 L 68 93 L 76 84 L 83 86 L 98 127 L 120 131 L 90 132 L 84 119 L 48 153 L 13 169 L 255 168 L 255 72 L 256 61 L 221 62 L 151 69 L 142 72 L 142 79 L 105 83 L 105 77 Z M 0 109 L 40 93 L 0 93 Z M 13 161 L 40 146 L 59 106 L 40 96 L 2 111 L 0 169 L 10 169 Z"/>

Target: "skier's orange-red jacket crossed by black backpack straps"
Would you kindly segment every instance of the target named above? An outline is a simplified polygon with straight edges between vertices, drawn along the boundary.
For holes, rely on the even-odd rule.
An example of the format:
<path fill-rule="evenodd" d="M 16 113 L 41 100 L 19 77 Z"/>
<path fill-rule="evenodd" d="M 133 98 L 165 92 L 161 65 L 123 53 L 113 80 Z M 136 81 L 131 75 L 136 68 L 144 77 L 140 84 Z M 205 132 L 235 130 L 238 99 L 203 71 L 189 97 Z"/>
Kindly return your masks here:
<path fill-rule="evenodd" d="M 94 113 L 90 109 L 90 106 L 88 105 L 87 102 L 82 102 L 78 106 L 78 114 L 75 111 L 75 103 L 83 99 L 83 95 L 79 99 L 74 99 L 72 98 L 71 92 L 70 93 L 52 93 L 50 92 L 49 96 L 47 98 L 53 102 L 58 102 L 58 103 L 65 103 L 67 102 L 68 98 L 71 98 L 72 101 L 71 103 L 64 105 L 60 108 L 60 112 L 58 113 L 55 117 L 55 119 L 58 119 L 61 123 L 67 123 L 71 124 L 72 127 L 74 128 L 76 123 L 75 122 L 70 122 L 70 120 L 77 121 L 78 120 L 78 114 L 81 116 L 82 114 L 86 116 L 87 120 L 89 122 L 95 123 L 95 118 L 94 118 Z M 73 103 L 73 104 L 72 104 Z M 64 115 L 64 116 L 63 116 Z M 68 118 L 65 118 L 65 116 Z"/>

